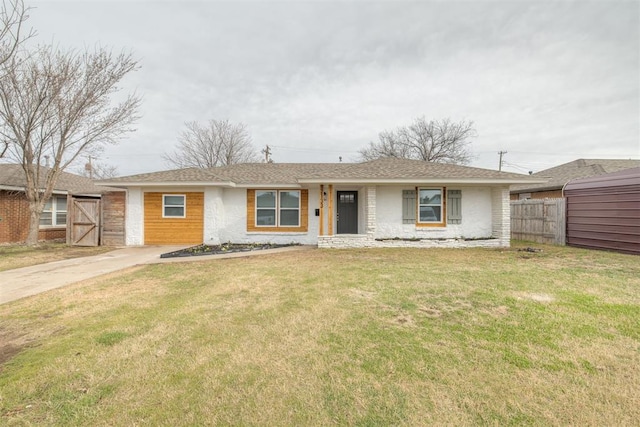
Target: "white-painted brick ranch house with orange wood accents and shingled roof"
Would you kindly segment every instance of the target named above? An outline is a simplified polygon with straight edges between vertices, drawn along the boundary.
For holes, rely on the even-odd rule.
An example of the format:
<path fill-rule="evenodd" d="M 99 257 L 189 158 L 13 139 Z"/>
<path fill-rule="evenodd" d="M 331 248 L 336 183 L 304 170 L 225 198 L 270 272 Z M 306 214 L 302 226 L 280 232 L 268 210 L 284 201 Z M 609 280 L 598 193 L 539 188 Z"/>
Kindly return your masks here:
<path fill-rule="evenodd" d="M 526 175 L 397 158 L 238 164 L 119 177 L 126 244 L 509 246 Z"/>

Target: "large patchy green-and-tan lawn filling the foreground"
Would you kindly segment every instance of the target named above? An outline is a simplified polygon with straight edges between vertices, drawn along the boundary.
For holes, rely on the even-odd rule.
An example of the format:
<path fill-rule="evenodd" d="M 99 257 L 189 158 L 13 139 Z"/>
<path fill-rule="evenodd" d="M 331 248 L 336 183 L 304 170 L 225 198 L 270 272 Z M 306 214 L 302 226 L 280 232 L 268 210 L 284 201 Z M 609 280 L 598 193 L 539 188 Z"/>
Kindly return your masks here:
<path fill-rule="evenodd" d="M 206 259 L 5 304 L 0 424 L 636 424 L 640 258 L 536 247 Z"/>

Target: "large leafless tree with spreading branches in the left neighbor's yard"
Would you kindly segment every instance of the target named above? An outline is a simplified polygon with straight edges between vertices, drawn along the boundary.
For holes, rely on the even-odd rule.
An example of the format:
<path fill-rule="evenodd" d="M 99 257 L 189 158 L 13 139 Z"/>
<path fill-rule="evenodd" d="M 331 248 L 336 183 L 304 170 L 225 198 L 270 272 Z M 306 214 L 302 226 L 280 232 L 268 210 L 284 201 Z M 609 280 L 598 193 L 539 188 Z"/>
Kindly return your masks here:
<path fill-rule="evenodd" d="M 44 205 L 60 176 L 79 155 L 99 152 L 133 129 L 140 98 L 112 103 L 122 78 L 137 69 L 130 54 L 62 52 L 43 47 L 14 55 L 0 79 L 0 140 L 22 165 L 29 200 L 28 244 L 38 241 Z M 42 168 L 45 156 L 49 168 Z"/>

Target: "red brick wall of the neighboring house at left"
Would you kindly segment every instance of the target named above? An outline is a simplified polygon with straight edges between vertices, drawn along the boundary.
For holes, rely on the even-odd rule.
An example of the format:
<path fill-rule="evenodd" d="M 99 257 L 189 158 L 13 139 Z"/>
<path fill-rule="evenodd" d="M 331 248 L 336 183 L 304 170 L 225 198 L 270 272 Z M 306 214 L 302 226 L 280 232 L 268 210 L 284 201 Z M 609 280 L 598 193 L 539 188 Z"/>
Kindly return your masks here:
<path fill-rule="evenodd" d="M 29 202 L 24 193 L 0 190 L 0 244 L 23 243 L 29 233 Z M 39 240 L 64 240 L 65 227 L 46 228 L 38 232 Z"/>

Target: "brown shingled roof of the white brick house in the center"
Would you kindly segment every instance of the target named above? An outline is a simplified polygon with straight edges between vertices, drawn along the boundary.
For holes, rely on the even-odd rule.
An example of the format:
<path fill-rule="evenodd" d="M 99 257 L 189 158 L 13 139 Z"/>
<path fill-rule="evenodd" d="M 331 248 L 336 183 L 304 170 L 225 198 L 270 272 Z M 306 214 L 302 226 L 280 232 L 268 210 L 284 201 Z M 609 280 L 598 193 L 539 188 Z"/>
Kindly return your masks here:
<path fill-rule="evenodd" d="M 383 158 L 364 163 L 242 163 L 208 169 L 187 168 L 112 178 L 111 186 L 222 185 L 300 186 L 322 183 L 478 183 L 539 182 L 528 175 L 421 160 Z"/>

